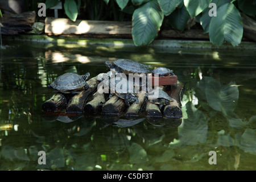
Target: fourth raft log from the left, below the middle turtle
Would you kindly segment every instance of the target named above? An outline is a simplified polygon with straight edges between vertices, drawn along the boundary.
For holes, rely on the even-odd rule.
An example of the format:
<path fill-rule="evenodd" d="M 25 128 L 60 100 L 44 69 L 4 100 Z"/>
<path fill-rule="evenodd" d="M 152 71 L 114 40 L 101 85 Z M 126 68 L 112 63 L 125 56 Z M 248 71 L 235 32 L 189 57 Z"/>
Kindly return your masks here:
<path fill-rule="evenodd" d="M 102 106 L 101 114 L 104 115 L 120 115 L 125 109 L 125 102 L 117 96 L 111 97 L 104 106 Z"/>

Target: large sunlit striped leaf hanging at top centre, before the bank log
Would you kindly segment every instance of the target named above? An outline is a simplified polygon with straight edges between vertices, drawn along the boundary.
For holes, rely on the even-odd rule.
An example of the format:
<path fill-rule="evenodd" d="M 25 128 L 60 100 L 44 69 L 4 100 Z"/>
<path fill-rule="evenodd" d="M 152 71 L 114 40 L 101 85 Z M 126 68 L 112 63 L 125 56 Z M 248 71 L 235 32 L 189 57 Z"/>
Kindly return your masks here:
<path fill-rule="evenodd" d="M 136 46 L 147 45 L 155 39 L 163 23 L 164 14 L 156 0 L 149 1 L 133 13 L 133 41 Z"/>

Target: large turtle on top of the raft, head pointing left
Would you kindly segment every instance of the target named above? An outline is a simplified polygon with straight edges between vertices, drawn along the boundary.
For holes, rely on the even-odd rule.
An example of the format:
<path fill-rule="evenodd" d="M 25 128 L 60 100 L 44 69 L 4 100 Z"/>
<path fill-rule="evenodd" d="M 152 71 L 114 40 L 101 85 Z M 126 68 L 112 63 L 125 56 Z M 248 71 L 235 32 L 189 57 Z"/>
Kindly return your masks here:
<path fill-rule="evenodd" d="M 149 69 L 146 65 L 138 63 L 137 61 L 130 59 L 118 59 L 113 62 L 113 64 L 105 61 L 106 67 L 109 69 L 115 69 L 115 72 L 125 73 L 149 73 Z"/>

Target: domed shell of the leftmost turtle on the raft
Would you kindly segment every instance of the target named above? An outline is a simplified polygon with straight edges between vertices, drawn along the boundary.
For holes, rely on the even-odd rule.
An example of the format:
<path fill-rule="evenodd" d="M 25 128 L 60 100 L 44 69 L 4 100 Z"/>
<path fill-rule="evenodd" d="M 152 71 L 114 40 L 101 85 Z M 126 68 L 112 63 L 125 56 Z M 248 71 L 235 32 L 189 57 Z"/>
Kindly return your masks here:
<path fill-rule="evenodd" d="M 84 78 L 76 73 L 65 73 L 51 83 L 56 90 L 77 90 L 85 86 Z"/>

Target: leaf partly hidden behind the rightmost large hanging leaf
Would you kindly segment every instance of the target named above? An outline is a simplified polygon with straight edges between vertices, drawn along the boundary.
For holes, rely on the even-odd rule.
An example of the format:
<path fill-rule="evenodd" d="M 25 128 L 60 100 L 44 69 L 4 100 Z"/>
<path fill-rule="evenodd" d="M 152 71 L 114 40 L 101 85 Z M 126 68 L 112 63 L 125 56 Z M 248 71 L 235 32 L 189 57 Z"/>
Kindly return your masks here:
<path fill-rule="evenodd" d="M 220 6 L 224 5 L 225 3 L 229 3 L 231 0 L 212 0 L 212 3 L 216 4 L 216 9 L 218 9 Z M 209 11 L 211 8 L 207 8 L 203 11 L 202 16 L 200 18 L 200 24 L 204 28 L 204 32 L 209 32 L 209 26 L 210 26 L 210 20 L 212 19 L 212 16 L 209 16 Z"/>

